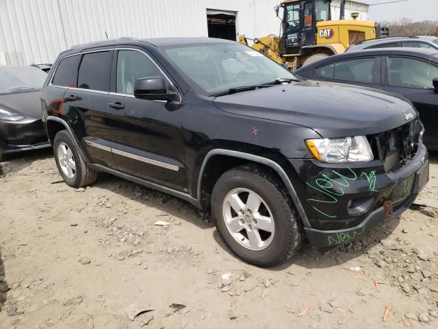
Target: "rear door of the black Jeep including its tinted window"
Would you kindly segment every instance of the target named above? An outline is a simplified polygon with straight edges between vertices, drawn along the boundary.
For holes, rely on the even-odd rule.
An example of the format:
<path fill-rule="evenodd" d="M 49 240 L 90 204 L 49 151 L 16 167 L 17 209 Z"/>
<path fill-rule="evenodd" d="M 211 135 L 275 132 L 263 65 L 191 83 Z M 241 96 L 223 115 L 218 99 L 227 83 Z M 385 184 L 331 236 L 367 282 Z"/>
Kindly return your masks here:
<path fill-rule="evenodd" d="M 63 108 L 81 147 L 96 164 L 114 168 L 110 131 L 106 125 L 106 101 L 110 91 L 112 48 L 83 52 L 77 82 L 66 90 Z"/>

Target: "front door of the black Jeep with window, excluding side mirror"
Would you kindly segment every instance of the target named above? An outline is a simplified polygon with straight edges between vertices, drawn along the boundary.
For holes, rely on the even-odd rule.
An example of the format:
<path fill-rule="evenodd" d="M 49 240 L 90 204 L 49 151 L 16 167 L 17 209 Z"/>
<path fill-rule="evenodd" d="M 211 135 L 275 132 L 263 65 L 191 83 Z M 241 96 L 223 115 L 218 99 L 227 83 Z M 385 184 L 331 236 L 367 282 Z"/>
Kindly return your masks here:
<path fill-rule="evenodd" d="M 134 97 L 134 84 L 141 77 L 164 77 L 168 90 L 177 92 L 144 49 L 114 49 L 113 66 L 107 112 L 118 170 L 185 191 L 181 96 L 170 103 Z"/>

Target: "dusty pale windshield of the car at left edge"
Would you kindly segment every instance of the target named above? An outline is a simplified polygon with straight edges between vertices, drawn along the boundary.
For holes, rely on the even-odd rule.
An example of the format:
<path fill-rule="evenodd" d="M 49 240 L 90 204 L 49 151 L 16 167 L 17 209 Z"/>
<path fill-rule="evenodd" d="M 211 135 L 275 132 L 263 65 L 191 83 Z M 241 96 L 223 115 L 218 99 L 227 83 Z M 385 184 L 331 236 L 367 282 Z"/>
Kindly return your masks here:
<path fill-rule="evenodd" d="M 0 94 L 39 90 L 46 77 L 33 66 L 0 66 Z"/>

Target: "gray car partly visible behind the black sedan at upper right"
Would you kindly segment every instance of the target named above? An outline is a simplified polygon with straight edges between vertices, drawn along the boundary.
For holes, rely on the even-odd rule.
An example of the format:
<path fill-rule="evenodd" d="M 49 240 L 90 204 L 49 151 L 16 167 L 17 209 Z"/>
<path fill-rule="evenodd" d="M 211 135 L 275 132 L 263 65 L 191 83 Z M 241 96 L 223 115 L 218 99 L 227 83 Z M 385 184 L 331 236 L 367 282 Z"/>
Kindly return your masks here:
<path fill-rule="evenodd" d="M 377 38 L 363 40 L 356 45 L 351 45 L 346 52 L 359 51 L 363 49 L 409 47 L 421 49 L 437 49 L 438 38 L 436 36 L 391 36 L 389 38 Z"/>

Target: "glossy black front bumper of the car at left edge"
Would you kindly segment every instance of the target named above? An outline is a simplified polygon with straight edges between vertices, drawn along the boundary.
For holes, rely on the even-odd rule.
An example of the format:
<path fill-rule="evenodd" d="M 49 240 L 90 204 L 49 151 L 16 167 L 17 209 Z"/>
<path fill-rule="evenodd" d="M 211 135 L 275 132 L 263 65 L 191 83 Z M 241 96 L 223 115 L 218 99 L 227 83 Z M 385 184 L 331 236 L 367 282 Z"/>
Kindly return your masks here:
<path fill-rule="evenodd" d="M 0 153 L 28 151 L 50 147 L 41 119 L 0 120 Z"/>

